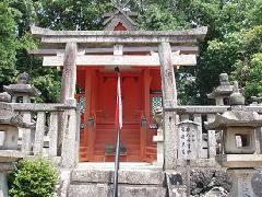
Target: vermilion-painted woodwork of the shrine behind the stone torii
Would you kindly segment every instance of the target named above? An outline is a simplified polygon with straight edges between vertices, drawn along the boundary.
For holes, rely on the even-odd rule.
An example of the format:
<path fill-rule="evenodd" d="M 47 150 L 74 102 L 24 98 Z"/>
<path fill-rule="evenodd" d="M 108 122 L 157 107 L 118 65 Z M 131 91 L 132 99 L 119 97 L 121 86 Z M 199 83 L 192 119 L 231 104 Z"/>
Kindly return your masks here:
<path fill-rule="evenodd" d="M 119 23 L 115 31 L 127 31 L 127 28 Z M 123 127 L 120 143 L 127 147 L 127 155 L 121 155 L 121 161 L 156 160 L 156 144 L 153 142 L 156 130 L 150 129 L 150 124 L 154 121 L 150 92 L 160 91 L 160 84 L 159 67 L 134 67 L 130 71 L 121 71 Z M 80 134 L 80 161 L 114 161 L 112 155 L 105 155 L 105 148 L 106 143 L 115 144 L 117 137 L 115 129 L 117 76 L 100 66 L 78 67 L 76 86 L 84 92 L 76 94 L 76 100 L 85 96 L 85 111 L 81 115 L 84 128 Z M 142 118 L 146 119 L 146 127 L 141 127 Z M 91 119 L 94 120 L 93 127 L 88 124 Z"/>

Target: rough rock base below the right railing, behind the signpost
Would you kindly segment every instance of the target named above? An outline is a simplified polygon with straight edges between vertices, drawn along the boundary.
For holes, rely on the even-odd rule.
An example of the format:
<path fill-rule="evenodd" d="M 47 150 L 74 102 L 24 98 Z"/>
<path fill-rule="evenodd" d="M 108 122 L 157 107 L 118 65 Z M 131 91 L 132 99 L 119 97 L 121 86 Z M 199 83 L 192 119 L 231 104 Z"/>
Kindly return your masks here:
<path fill-rule="evenodd" d="M 166 172 L 169 196 L 183 197 L 187 194 L 188 178 L 186 167 L 180 167 L 176 172 Z M 189 187 L 189 185 L 188 185 Z M 231 179 L 225 170 L 219 166 L 213 167 L 191 167 L 190 171 L 190 193 L 192 196 L 205 196 L 221 193 L 219 197 L 225 197 L 231 189 Z M 182 192 L 183 190 L 183 192 Z M 175 193 L 174 193 L 175 192 Z M 170 195 L 172 194 L 172 195 Z M 176 196 L 176 195 L 177 196 Z M 174 196 L 175 195 L 175 196 Z M 212 196 L 212 197 L 218 197 Z"/>

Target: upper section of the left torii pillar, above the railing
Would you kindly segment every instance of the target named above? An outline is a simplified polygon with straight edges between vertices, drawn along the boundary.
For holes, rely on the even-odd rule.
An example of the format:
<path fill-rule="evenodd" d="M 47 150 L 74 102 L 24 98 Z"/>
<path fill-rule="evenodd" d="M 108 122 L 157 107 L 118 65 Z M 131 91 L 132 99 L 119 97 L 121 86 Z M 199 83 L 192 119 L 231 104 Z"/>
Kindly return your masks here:
<path fill-rule="evenodd" d="M 68 99 L 74 99 L 76 83 L 76 56 L 78 44 L 67 43 L 63 59 L 61 103 L 66 103 Z"/>

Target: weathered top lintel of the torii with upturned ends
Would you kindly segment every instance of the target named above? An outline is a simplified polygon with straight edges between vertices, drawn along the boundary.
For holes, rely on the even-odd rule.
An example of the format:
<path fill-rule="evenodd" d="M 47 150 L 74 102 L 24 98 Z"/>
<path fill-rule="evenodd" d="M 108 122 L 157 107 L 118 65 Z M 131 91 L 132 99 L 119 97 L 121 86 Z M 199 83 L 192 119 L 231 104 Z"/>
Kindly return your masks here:
<path fill-rule="evenodd" d="M 171 45 L 194 45 L 204 39 L 207 27 L 181 31 L 52 31 L 32 26 L 32 34 L 43 44 L 66 44 L 69 42 L 85 45 L 140 44 L 150 45 L 168 42 Z"/>

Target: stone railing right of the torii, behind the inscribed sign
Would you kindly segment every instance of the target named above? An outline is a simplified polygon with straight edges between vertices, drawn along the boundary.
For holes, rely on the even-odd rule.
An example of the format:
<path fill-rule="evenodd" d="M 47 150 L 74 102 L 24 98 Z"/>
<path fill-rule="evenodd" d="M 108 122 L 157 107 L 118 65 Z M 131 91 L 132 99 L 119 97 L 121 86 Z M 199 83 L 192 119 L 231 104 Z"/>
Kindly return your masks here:
<path fill-rule="evenodd" d="M 178 115 L 178 125 L 179 123 L 191 120 L 198 124 L 195 140 L 198 141 L 198 159 L 192 161 L 192 165 L 213 165 L 216 154 L 221 153 L 221 136 L 216 134 L 215 130 L 206 130 L 204 128 L 204 121 L 211 121 L 214 119 L 215 115 L 226 112 L 230 106 L 177 106 L 177 107 L 166 107 L 167 112 L 176 112 Z M 254 111 L 259 114 L 262 114 L 262 105 L 247 106 L 247 111 Z M 180 130 L 178 130 L 179 132 Z M 261 130 L 257 132 L 258 139 L 261 138 Z M 179 143 L 179 134 L 178 134 L 178 143 Z M 259 143 L 258 143 L 259 144 Z M 179 146 L 178 146 L 179 147 Z M 179 151 L 179 148 L 178 148 Z M 261 152 L 261 148 L 257 146 L 257 153 Z M 178 165 L 183 165 L 183 159 L 179 158 L 178 153 Z"/>

